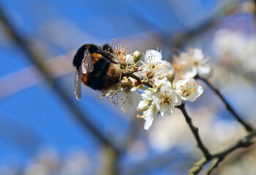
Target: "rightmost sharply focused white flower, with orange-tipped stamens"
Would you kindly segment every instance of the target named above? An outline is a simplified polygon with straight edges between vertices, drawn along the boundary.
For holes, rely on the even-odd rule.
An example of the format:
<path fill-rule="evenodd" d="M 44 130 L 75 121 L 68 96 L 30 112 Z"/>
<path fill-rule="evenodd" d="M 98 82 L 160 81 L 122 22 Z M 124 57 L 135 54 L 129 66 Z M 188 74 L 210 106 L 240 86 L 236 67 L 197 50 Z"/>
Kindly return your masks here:
<path fill-rule="evenodd" d="M 181 79 L 176 84 L 176 93 L 184 101 L 195 101 L 203 93 L 203 88 L 195 79 Z"/>

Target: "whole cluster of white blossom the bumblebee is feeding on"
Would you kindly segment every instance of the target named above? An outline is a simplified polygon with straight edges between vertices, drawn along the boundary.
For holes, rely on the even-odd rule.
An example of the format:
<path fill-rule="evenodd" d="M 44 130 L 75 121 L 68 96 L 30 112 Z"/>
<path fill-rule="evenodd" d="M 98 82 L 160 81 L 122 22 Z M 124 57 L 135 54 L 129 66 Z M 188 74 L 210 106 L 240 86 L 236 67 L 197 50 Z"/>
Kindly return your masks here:
<path fill-rule="evenodd" d="M 146 130 L 155 117 L 170 115 L 182 101 L 195 101 L 203 93 L 203 88 L 193 79 L 195 76 L 211 76 L 211 66 L 206 64 L 208 58 L 197 48 L 176 55 L 172 66 L 162 60 L 162 50 L 147 50 L 145 54 L 135 51 L 128 55 L 127 43 L 123 45 L 117 40 L 112 44 L 116 46 L 113 56 L 124 76 L 99 97 L 108 96 L 124 113 L 137 106 L 143 112 L 137 117 L 146 120 Z"/>

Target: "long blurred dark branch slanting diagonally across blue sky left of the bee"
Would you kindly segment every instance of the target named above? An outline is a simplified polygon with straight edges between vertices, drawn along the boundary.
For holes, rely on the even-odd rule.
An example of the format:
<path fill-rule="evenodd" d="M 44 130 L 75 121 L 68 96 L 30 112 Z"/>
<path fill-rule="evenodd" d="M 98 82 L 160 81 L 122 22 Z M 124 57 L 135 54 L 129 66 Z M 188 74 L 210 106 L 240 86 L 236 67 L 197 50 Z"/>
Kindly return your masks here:
<path fill-rule="evenodd" d="M 27 39 L 24 39 L 15 28 L 12 26 L 10 21 L 7 19 L 7 16 L 4 14 L 3 8 L 0 6 L 0 21 L 3 24 L 4 28 L 7 31 L 7 35 L 10 36 L 20 47 L 21 50 L 27 55 L 27 58 L 34 63 L 39 69 L 43 77 L 45 77 L 46 82 L 50 87 L 53 88 L 53 92 L 64 102 L 69 111 L 72 113 L 72 117 L 80 123 L 83 128 L 90 131 L 93 136 L 95 136 L 103 145 L 111 147 L 114 152 L 118 152 L 116 145 L 111 143 L 103 133 L 99 131 L 94 123 L 89 120 L 89 116 L 85 115 L 82 110 L 75 104 L 72 98 L 70 98 L 69 93 L 63 89 L 61 84 L 57 81 L 54 81 L 53 74 L 51 74 L 48 66 L 45 65 L 44 59 L 37 50 L 31 49 Z"/>

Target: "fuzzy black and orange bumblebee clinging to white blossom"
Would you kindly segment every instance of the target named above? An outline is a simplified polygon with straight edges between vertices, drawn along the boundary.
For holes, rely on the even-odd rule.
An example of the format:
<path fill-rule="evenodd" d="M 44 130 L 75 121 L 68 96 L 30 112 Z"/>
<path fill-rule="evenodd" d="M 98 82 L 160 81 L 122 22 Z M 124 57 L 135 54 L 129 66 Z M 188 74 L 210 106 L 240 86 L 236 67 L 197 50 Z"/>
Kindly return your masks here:
<path fill-rule="evenodd" d="M 94 90 L 108 90 L 121 78 L 121 69 L 113 58 L 113 48 L 109 44 L 99 47 L 84 44 L 73 59 L 75 66 L 75 98 L 81 98 L 81 82 Z"/>

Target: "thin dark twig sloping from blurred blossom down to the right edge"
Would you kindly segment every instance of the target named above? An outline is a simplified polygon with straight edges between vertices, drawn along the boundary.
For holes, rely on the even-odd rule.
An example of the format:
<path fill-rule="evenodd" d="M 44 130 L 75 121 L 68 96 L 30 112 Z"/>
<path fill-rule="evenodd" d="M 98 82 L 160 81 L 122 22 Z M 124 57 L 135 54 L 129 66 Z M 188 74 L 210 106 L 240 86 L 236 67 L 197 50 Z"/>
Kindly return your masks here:
<path fill-rule="evenodd" d="M 223 103 L 225 104 L 227 110 L 233 114 L 234 117 L 236 117 L 236 120 L 238 120 L 239 123 L 241 123 L 244 128 L 246 128 L 246 131 L 251 132 L 253 130 L 252 126 L 249 123 L 246 123 L 236 112 L 235 110 L 230 106 L 230 104 L 227 102 L 227 100 L 224 98 L 224 96 L 222 95 L 222 93 L 219 92 L 218 88 L 215 88 L 214 85 L 211 85 L 210 82 L 208 82 L 207 79 L 204 79 L 202 77 L 196 77 L 197 79 L 201 79 L 203 82 L 206 83 L 206 85 L 208 85 L 209 88 L 211 88 L 211 90 L 214 90 L 214 92 L 217 94 L 217 96 L 219 96 L 219 98 L 222 99 Z"/>

